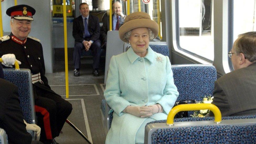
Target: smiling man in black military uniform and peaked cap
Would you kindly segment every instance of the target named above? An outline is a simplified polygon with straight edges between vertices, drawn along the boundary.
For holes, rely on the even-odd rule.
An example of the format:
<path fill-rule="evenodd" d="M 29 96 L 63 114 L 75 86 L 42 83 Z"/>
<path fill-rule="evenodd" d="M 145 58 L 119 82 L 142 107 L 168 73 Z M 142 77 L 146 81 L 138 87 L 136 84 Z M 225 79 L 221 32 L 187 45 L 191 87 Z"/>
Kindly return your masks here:
<path fill-rule="evenodd" d="M 0 38 L 0 56 L 3 67 L 12 67 L 18 60 L 20 68 L 32 73 L 34 100 L 38 125 L 41 127 L 40 141 L 52 143 L 72 111 L 72 105 L 51 90 L 45 77 L 45 65 L 40 40 L 29 37 L 35 9 L 18 5 L 7 9 L 11 17 L 9 36 Z"/>

